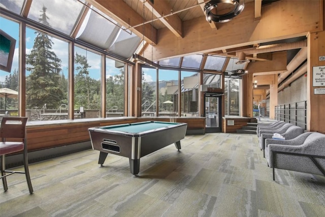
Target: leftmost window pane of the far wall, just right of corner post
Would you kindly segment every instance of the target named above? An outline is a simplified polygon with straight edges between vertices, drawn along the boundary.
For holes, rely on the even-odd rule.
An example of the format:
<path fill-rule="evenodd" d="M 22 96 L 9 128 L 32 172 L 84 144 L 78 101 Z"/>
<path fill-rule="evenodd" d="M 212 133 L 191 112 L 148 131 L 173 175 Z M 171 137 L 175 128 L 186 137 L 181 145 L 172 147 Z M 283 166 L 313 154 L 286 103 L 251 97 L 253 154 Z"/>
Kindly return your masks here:
<path fill-rule="evenodd" d="M 156 69 L 142 68 L 142 116 L 156 116 L 156 78 Z"/>

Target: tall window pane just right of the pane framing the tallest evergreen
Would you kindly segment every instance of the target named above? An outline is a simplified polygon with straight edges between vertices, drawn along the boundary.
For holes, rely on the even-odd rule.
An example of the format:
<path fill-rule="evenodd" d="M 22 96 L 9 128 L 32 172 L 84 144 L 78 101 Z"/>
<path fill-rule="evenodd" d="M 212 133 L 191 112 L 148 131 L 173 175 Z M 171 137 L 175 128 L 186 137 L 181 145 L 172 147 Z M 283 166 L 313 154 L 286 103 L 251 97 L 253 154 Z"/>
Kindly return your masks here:
<path fill-rule="evenodd" d="M 101 117 L 101 55 L 75 47 L 75 110 Z"/>

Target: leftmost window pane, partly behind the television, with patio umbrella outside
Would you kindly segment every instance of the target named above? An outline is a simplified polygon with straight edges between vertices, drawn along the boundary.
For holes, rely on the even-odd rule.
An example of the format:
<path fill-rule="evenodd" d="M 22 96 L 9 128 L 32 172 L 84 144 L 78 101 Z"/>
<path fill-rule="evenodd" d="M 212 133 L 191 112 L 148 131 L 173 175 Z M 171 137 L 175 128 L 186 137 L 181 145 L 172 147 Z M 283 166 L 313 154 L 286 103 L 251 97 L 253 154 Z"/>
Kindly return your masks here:
<path fill-rule="evenodd" d="M 0 114 L 18 116 L 19 24 L 3 17 L 0 17 L 0 23 L 2 32 L 16 40 L 10 72 L 0 70 Z M 0 61 L 3 66 L 6 65 L 3 63 L 6 53 L 9 55 L 9 49 L 1 44 Z"/>

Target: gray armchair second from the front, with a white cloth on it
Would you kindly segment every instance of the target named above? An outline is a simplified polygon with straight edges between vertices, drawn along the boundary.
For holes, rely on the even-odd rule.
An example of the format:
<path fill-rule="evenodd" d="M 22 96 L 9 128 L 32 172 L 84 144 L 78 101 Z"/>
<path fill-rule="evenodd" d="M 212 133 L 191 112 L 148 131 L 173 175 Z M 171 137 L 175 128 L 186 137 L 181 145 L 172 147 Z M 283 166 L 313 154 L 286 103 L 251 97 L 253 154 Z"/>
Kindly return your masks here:
<path fill-rule="evenodd" d="M 270 131 L 269 131 L 270 132 Z M 277 132 L 271 133 L 262 133 L 258 138 L 259 147 L 263 150 L 263 157 L 265 157 L 265 140 L 272 139 L 274 133 L 281 134 L 286 140 L 294 139 L 297 136 L 303 134 L 305 130 L 301 127 L 291 125 L 290 123 L 286 123 L 282 128 L 277 130 Z"/>

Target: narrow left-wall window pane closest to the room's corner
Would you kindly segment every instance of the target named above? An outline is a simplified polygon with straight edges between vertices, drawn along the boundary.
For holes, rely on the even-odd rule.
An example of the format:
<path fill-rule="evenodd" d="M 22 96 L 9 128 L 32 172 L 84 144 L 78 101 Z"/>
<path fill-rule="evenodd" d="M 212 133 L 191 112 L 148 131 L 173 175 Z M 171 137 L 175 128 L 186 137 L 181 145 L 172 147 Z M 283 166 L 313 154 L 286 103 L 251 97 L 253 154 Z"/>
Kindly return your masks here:
<path fill-rule="evenodd" d="M 106 117 L 124 115 L 124 64 L 106 58 Z"/>

